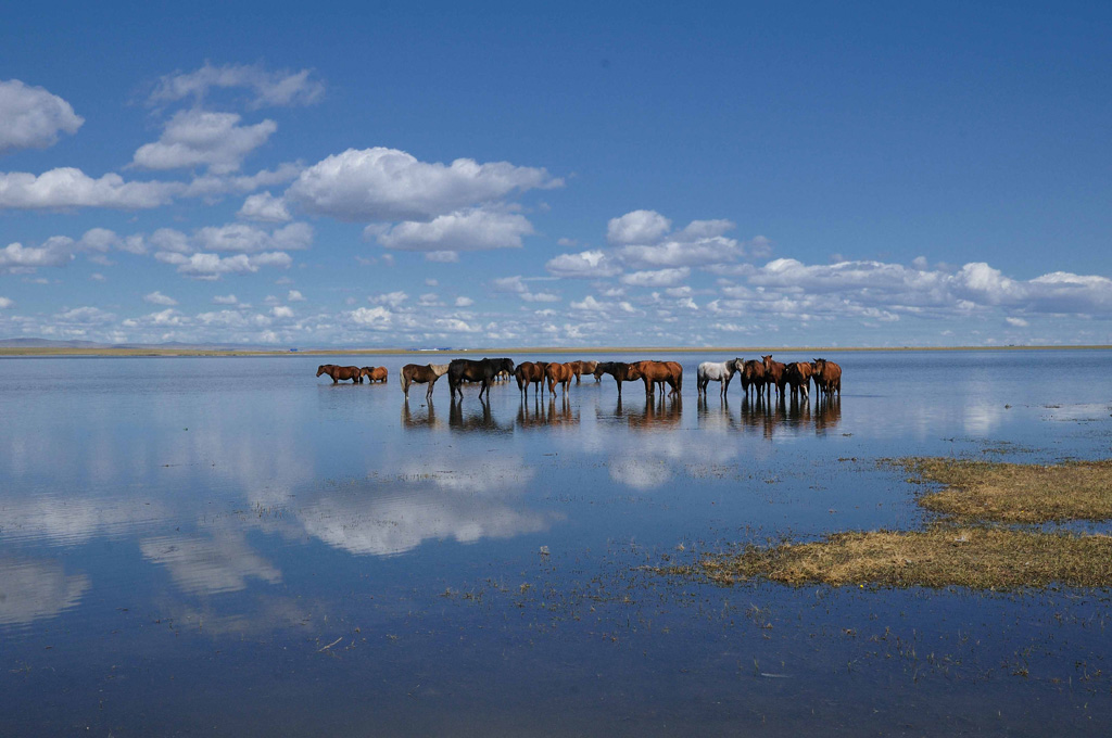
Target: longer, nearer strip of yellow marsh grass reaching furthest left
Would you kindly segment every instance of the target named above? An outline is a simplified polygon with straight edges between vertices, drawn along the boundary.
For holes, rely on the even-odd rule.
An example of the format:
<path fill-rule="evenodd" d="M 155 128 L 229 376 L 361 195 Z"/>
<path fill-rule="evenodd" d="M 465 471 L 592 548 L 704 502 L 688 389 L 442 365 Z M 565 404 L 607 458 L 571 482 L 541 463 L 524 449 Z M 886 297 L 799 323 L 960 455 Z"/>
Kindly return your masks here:
<path fill-rule="evenodd" d="M 813 542 L 749 547 L 677 574 L 718 584 L 763 577 L 786 585 L 1021 589 L 1112 586 L 1112 538 L 994 528 L 845 532 Z"/>

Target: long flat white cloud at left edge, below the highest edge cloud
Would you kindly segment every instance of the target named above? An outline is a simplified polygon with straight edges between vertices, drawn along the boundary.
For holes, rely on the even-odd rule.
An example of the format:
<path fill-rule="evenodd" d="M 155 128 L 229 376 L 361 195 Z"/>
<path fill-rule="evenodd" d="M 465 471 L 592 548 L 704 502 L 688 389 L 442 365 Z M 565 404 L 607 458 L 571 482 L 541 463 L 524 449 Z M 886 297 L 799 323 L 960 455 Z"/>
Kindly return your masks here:
<path fill-rule="evenodd" d="M 92 179 L 72 167 L 51 169 L 39 176 L 0 172 L 0 208 L 137 210 L 166 205 L 182 190 L 180 182 L 125 182 L 116 173 Z"/>

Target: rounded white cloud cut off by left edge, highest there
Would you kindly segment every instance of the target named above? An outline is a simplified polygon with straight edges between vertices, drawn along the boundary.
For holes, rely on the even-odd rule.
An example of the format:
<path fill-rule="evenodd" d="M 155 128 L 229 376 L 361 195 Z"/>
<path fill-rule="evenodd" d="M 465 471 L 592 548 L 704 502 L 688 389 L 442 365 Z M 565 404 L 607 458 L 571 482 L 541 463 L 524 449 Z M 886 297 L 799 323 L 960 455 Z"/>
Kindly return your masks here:
<path fill-rule="evenodd" d="M 41 87 L 0 81 L 0 153 L 44 149 L 58 142 L 59 133 L 76 133 L 83 122 L 70 103 Z"/>

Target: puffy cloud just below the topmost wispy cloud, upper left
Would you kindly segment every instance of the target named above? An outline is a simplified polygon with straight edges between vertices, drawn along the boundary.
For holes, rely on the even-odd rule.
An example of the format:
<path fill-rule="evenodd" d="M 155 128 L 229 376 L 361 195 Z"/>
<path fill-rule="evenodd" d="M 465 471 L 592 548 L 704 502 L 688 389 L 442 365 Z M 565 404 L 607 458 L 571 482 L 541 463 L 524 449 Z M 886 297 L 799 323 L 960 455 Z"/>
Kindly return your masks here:
<path fill-rule="evenodd" d="M 278 130 L 272 120 L 240 126 L 231 112 L 182 110 L 166 123 L 162 136 L 136 151 L 133 162 L 146 169 L 181 169 L 207 166 L 214 174 L 239 169 L 244 157 L 267 142 Z"/>

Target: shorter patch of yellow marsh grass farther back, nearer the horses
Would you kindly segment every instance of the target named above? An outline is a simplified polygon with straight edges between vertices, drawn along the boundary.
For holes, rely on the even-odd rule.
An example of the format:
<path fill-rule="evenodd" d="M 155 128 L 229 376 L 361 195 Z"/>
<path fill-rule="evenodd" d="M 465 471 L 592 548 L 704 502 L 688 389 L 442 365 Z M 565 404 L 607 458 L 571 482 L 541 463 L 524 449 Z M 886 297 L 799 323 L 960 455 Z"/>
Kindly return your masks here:
<path fill-rule="evenodd" d="M 923 495 L 927 510 L 961 521 L 1036 523 L 1112 518 L 1112 461 L 1053 466 L 940 458 L 895 463 L 946 489 Z"/>

